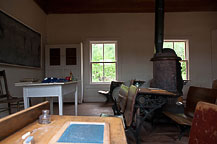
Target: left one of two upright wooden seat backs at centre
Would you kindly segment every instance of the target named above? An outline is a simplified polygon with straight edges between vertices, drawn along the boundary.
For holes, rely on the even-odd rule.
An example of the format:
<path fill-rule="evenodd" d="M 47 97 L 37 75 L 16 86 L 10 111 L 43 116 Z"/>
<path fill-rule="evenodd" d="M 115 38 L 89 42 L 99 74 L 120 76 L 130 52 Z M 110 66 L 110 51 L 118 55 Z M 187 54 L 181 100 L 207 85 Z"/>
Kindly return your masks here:
<path fill-rule="evenodd" d="M 122 114 L 124 113 L 126 109 L 126 105 L 127 105 L 128 89 L 129 89 L 128 86 L 125 86 L 124 84 L 122 84 L 119 90 L 117 101 L 116 101 L 118 109 L 120 110 Z"/>

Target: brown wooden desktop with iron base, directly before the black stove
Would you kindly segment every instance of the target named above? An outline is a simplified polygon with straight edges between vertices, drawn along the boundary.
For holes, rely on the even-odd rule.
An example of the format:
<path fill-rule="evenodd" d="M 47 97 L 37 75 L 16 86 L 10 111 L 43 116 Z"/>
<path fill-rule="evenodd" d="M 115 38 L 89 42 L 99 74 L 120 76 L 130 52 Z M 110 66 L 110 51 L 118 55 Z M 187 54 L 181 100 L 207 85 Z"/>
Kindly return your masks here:
<path fill-rule="evenodd" d="M 167 95 L 167 96 L 177 96 L 177 94 L 168 92 L 167 90 L 158 88 L 139 88 L 138 93 L 140 94 L 155 94 L 155 95 Z"/>

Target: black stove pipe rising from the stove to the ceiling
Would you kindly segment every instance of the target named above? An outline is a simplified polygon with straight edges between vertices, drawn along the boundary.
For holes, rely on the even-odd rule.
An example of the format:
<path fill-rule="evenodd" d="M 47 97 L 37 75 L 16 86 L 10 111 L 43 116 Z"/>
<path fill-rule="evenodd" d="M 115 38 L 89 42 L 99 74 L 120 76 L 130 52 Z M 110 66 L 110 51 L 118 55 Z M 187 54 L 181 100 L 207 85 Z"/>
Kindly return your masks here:
<path fill-rule="evenodd" d="M 162 53 L 164 40 L 164 0 L 155 0 L 155 50 Z"/>

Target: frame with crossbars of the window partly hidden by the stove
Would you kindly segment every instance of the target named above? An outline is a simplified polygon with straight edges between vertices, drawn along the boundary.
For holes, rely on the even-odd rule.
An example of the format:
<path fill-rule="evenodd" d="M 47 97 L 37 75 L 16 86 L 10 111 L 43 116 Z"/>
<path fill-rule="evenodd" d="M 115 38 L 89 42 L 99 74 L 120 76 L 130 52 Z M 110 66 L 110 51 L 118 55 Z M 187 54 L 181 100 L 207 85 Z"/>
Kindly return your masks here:
<path fill-rule="evenodd" d="M 190 74 L 189 74 L 189 40 L 188 39 L 164 39 L 164 42 L 172 42 L 173 43 L 173 50 L 174 50 L 174 43 L 175 42 L 185 42 L 185 59 L 180 60 L 180 62 L 186 62 L 186 79 L 183 79 L 183 80 L 190 80 Z"/>

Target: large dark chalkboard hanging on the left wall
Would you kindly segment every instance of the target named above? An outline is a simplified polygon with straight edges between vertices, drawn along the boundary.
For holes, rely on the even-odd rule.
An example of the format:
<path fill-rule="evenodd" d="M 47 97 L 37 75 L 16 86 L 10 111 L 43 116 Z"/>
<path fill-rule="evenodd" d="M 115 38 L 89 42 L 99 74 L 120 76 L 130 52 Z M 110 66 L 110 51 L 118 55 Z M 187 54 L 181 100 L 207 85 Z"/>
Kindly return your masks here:
<path fill-rule="evenodd" d="M 0 63 L 40 68 L 41 35 L 0 11 Z"/>

